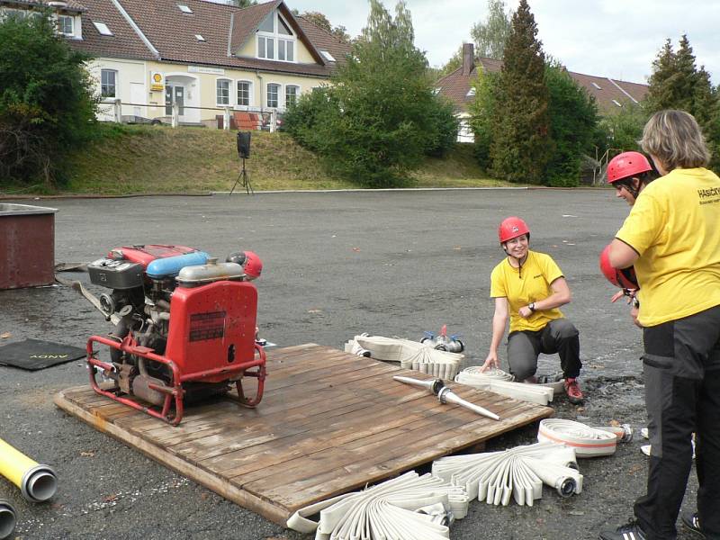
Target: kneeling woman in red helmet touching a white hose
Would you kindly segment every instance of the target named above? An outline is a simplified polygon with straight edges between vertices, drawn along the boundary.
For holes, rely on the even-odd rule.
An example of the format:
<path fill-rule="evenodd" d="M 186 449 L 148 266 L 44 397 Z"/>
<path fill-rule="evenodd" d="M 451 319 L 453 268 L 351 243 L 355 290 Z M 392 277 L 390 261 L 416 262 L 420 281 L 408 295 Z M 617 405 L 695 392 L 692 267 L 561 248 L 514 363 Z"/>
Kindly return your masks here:
<path fill-rule="evenodd" d="M 503 220 L 498 237 L 508 257 L 491 274 L 495 314 L 490 352 L 482 371 L 500 367 L 498 347 L 509 314 L 508 364 L 516 381 L 535 383 L 537 357 L 540 353 L 557 353 L 568 399 L 581 403 L 583 396 L 577 381 L 582 367 L 580 338 L 572 322 L 558 309 L 571 300 L 563 272 L 553 257 L 529 249 L 530 229 L 520 218 Z"/>

